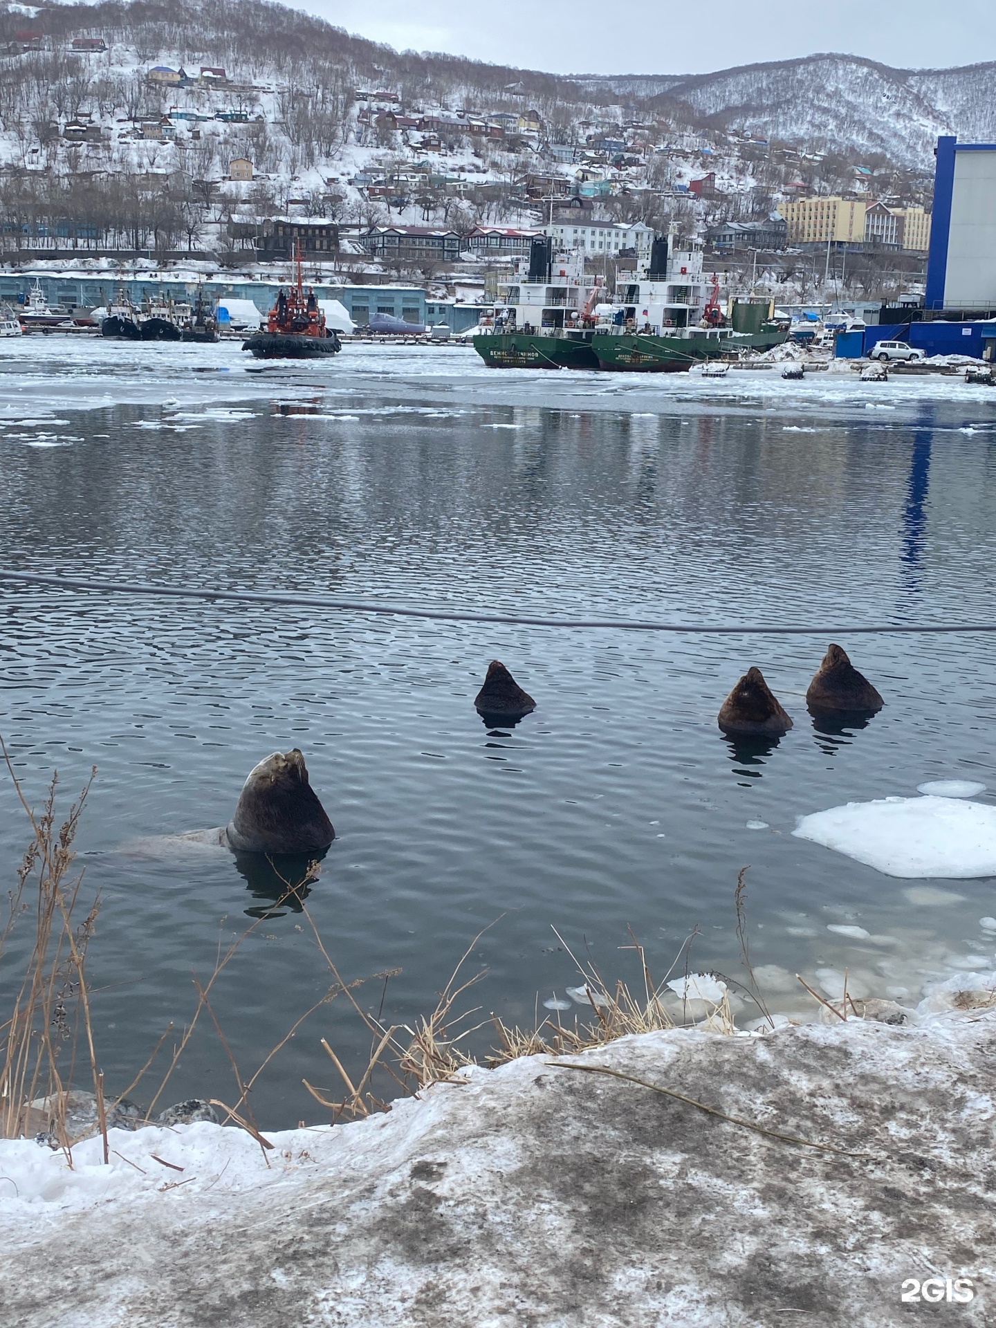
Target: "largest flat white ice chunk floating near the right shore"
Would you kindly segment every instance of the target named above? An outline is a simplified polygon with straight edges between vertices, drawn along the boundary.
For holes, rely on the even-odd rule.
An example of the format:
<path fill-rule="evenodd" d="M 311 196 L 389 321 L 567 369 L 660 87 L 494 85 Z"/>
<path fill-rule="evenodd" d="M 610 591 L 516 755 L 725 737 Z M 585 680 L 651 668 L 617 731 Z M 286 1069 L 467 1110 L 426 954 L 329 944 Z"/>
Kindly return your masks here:
<path fill-rule="evenodd" d="M 936 797 L 849 802 L 802 817 L 793 834 L 887 876 L 996 875 L 996 807 L 981 802 Z"/>

